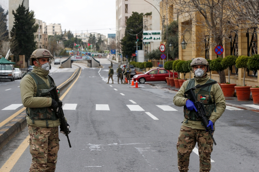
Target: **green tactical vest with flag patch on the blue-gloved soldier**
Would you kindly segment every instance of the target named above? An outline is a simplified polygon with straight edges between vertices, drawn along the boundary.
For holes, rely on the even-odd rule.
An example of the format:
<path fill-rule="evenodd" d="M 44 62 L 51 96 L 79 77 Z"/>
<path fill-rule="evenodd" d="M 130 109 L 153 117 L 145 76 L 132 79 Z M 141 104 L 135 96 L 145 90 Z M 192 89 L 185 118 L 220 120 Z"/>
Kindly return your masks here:
<path fill-rule="evenodd" d="M 214 81 L 215 80 L 209 79 L 205 84 L 211 83 Z M 185 91 L 189 90 L 192 87 L 195 87 L 194 78 L 190 79 Z M 210 118 L 210 115 L 213 111 L 216 112 L 215 102 L 212 102 L 211 95 L 210 95 L 211 87 L 212 87 L 212 85 L 209 85 L 207 87 L 200 88 L 200 90 L 197 93 L 194 92 L 194 94 L 197 98 L 197 101 L 202 101 L 204 104 L 207 119 Z M 190 99 L 190 97 L 187 94 L 185 94 L 184 97 Z M 195 112 L 195 110 L 190 111 L 187 109 L 186 106 L 184 106 L 184 108 L 183 108 L 183 113 L 184 113 L 185 118 L 187 118 L 188 120 L 192 120 L 192 121 L 201 121 L 201 119 L 197 118 L 197 116 L 195 115 L 194 112 Z M 188 122 L 188 120 L 187 120 L 187 122 Z"/>

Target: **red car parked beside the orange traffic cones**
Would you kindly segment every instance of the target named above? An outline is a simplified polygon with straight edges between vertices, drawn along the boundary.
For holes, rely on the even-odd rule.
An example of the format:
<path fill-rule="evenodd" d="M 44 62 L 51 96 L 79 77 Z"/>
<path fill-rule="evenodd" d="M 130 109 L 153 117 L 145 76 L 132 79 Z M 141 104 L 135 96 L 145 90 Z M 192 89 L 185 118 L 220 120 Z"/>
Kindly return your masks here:
<path fill-rule="evenodd" d="M 173 77 L 173 73 L 170 72 L 170 76 Z M 143 84 L 150 81 L 166 81 L 166 77 L 169 77 L 169 71 L 163 68 L 151 69 L 144 74 L 134 75 L 133 80 L 138 80 L 139 83 Z M 175 72 L 175 77 L 178 77 L 177 72 Z"/>

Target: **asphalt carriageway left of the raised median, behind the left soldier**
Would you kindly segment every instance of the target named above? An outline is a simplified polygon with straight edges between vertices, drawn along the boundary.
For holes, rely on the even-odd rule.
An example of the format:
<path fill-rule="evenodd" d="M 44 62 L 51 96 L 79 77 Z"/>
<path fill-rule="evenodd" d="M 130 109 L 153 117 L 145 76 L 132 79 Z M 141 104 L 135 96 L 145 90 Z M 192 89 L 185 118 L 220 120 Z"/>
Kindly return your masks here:
<path fill-rule="evenodd" d="M 54 62 L 52 62 L 54 63 Z M 60 65 L 52 65 L 49 75 L 54 79 L 56 85 L 60 85 L 65 82 L 76 70 L 77 66 L 72 65 L 73 68 L 58 68 Z M 6 81 L 0 82 L 0 122 L 4 121 L 6 118 L 23 108 L 21 102 L 21 93 L 20 93 L 20 81 Z M 19 104 L 16 109 L 13 110 L 2 110 L 12 104 Z"/>

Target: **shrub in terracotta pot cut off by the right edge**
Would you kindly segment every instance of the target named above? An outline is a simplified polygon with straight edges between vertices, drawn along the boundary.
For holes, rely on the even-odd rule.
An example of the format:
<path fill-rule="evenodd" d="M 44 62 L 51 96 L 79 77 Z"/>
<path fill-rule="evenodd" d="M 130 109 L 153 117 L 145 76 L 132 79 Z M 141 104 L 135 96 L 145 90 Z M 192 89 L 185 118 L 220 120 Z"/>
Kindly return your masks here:
<path fill-rule="evenodd" d="M 259 54 L 255 54 L 248 59 L 247 68 L 250 71 L 259 70 Z M 250 91 L 252 92 L 254 104 L 258 104 L 259 103 L 259 87 L 255 85 L 255 87 L 250 88 Z"/>

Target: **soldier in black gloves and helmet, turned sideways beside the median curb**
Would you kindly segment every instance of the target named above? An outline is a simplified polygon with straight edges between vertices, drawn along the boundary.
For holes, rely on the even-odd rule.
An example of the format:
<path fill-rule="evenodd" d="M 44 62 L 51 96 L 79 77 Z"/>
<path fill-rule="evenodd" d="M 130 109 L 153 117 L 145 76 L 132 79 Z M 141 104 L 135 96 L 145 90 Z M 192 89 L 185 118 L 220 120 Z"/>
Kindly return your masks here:
<path fill-rule="evenodd" d="M 20 82 L 21 101 L 26 108 L 30 134 L 30 171 L 55 171 L 59 150 L 59 125 L 56 111 L 58 104 L 48 90 L 55 85 L 49 76 L 52 54 L 46 49 L 33 51 L 31 72 L 25 73 Z M 59 93 L 59 89 L 57 89 Z M 67 124 L 68 128 L 69 125 Z M 60 131 L 64 134 L 64 131 Z"/>

